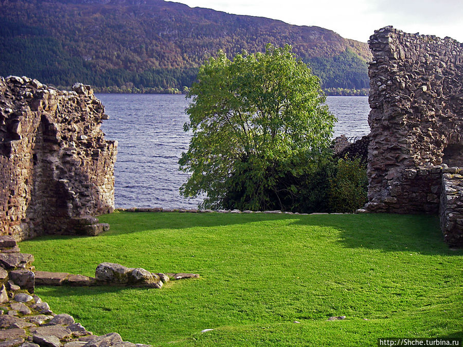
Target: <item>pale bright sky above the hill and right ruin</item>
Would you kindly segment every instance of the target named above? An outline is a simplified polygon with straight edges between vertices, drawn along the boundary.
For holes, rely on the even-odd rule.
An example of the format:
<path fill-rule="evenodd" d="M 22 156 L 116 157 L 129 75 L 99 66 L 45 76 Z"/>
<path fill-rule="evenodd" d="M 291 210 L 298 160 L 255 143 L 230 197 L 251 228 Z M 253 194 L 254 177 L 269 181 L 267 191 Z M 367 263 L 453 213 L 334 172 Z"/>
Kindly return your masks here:
<path fill-rule="evenodd" d="M 463 42 L 462 0 L 174 0 L 190 7 L 268 17 L 319 26 L 343 38 L 367 42 L 376 29 L 392 25 L 409 33 Z"/>

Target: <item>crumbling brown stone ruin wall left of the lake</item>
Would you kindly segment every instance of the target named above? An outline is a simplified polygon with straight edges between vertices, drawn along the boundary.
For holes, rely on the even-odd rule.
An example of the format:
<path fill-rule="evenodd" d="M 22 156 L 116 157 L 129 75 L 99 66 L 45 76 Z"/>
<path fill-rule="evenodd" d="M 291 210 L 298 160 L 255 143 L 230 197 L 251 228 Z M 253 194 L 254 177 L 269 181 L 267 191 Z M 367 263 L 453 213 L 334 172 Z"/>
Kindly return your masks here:
<path fill-rule="evenodd" d="M 0 77 L 0 234 L 85 232 L 98 226 L 90 215 L 113 211 L 117 142 L 104 140 L 106 118 L 90 86 Z"/>

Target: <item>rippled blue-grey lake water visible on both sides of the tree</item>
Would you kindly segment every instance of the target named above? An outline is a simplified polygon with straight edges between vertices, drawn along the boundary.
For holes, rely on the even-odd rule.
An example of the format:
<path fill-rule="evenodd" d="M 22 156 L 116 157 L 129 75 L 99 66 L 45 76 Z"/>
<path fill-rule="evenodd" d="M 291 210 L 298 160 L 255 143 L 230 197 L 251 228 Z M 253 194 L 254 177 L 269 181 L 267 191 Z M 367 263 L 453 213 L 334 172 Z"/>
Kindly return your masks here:
<path fill-rule="evenodd" d="M 195 208 L 201 198 L 185 199 L 179 188 L 188 175 L 177 161 L 188 149 L 190 136 L 183 95 L 98 94 L 109 120 L 101 126 L 106 139 L 118 140 L 115 167 L 116 207 Z M 367 135 L 367 97 L 328 97 L 337 117 L 334 136 Z"/>

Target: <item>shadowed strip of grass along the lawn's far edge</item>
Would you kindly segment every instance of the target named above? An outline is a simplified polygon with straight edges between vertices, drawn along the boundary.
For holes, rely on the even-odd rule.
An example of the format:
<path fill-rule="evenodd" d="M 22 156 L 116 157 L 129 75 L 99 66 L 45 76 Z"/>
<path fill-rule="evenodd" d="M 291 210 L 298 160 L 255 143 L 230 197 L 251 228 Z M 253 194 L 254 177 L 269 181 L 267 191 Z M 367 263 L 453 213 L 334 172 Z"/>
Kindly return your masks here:
<path fill-rule="evenodd" d="M 241 229 L 255 222 L 290 220 L 308 227 L 330 227 L 340 231 L 339 240 L 346 248 L 414 251 L 421 254 L 463 255 L 463 249 L 451 250 L 444 243 L 439 221 L 430 215 L 398 214 L 224 214 L 224 213 L 146 213 L 121 212 L 100 216 L 111 230 L 104 236 L 158 229 L 234 226 Z M 76 236 L 44 236 L 30 240 L 71 239 Z M 80 236 L 87 238 L 88 236 Z M 92 238 L 93 236 L 90 236 Z"/>

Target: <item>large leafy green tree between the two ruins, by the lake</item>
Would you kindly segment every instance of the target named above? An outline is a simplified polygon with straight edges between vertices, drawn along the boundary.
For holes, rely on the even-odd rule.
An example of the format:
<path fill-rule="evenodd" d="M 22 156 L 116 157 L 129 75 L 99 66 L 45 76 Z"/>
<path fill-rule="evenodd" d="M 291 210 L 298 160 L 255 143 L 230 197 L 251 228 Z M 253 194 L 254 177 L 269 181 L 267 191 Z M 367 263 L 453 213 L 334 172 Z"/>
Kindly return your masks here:
<path fill-rule="evenodd" d="M 208 208 L 284 208 L 281 195 L 294 189 L 284 177 L 303 173 L 335 122 L 318 78 L 291 50 L 269 44 L 233 60 L 219 51 L 200 67 L 187 94 L 183 196 L 205 194 Z"/>

